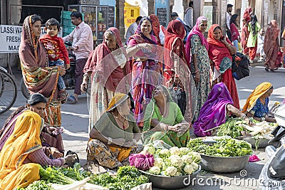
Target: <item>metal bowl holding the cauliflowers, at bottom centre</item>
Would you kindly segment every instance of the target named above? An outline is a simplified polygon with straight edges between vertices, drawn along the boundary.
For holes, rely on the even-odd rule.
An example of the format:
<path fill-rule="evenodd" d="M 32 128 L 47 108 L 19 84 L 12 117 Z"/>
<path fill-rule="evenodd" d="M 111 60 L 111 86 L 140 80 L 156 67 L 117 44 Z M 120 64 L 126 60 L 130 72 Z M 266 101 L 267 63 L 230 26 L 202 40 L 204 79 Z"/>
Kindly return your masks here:
<path fill-rule="evenodd" d="M 148 179 L 150 179 L 150 182 L 152 182 L 152 186 L 159 189 L 182 189 L 185 186 L 190 186 L 192 184 L 192 179 L 197 176 L 199 171 L 201 170 L 201 166 L 199 166 L 199 169 L 195 171 L 191 175 L 187 176 L 160 176 L 160 175 L 154 175 L 150 174 L 146 171 L 142 171 L 143 174 L 145 174 Z"/>

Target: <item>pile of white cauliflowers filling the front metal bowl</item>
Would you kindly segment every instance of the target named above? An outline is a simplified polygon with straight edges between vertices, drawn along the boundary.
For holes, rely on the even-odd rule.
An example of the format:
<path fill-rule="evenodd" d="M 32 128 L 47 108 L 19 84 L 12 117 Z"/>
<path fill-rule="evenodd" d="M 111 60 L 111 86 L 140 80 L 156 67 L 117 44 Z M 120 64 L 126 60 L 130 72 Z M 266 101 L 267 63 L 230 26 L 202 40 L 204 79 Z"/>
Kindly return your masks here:
<path fill-rule="evenodd" d="M 147 146 L 142 153 L 150 153 L 155 157 L 153 167 L 150 167 L 150 174 L 162 176 L 184 176 L 193 174 L 199 169 L 201 162 L 200 154 L 191 152 L 187 147 L 172 147 L 170 149 L 155 149 Z"/>

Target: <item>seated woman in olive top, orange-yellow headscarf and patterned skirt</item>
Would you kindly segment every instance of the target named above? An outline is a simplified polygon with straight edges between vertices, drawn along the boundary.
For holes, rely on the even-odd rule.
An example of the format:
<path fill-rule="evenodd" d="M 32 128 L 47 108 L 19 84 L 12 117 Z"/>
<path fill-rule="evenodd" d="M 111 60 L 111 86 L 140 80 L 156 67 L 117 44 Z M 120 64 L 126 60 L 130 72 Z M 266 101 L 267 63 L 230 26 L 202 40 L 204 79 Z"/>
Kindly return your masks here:
<path fill-rule="evenodd" d="M 138 147 L 140 129 L 130 114 L 128 95 L 117 93 L 108 109 L 90 131 L 87 148 L 88 169 L 93 164 L 114 169 L 128 165 L 129 155 L 141 152 Z"/>

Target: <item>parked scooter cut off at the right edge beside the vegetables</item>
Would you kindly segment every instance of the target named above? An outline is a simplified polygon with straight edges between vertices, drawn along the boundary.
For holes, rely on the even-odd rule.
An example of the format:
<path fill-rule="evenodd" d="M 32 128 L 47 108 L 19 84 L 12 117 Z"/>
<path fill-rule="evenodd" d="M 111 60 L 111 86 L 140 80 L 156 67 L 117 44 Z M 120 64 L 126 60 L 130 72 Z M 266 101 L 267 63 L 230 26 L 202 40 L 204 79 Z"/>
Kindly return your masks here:
<path fill-rule="evenodd" d="M 267 146 L 265 152 L 269 160 L 259 175 L 259 189 L 285 189 L 285 104 L 278 107 L 274 117 L 279 126 L 272 131 L 269 143 L 280 142 L 280 147 Z"/>

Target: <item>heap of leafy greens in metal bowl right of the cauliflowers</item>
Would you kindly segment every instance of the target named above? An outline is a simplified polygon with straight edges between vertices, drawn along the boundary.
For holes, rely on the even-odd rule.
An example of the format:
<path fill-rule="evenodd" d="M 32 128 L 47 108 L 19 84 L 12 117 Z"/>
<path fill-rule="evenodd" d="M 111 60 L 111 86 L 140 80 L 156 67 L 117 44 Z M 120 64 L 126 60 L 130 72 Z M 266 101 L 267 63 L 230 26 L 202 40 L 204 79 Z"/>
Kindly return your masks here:
<path fill-rule="evenodd" d="M 192 151 L 214 157 L 241 157 L 252 154 L 251 144 L 232 138 L 217 139 L 213 144 L 205 144 L 202 139 L 192 139 L 187 147 Z"/>

